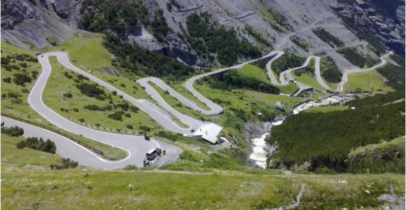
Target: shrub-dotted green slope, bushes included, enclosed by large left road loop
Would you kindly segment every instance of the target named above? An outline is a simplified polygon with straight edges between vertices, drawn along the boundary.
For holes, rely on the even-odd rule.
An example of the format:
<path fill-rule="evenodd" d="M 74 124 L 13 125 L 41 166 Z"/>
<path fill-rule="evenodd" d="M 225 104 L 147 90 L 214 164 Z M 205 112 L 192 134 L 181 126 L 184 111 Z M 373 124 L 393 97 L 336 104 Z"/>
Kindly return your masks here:
<path fill-rule="evenodd" d="M 101 130 L 147 132 L 160 127 L 147 113 L 50 57 L 43 102 L 65 118 Z M 60 85 L 63 83 L 64 85 Z M 142 120 L 141 120 L 142 119 Z"/>

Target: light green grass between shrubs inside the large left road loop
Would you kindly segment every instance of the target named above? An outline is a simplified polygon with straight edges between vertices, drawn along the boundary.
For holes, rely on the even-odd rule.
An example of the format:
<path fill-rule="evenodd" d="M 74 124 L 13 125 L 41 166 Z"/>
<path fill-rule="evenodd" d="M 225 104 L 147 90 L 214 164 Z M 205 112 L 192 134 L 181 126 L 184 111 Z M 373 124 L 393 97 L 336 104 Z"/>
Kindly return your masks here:
<path fill-rule="evenodd" d="M 103 101 L 95 99 L 94 97 L 88 97 L 85 94 L 82 94 L 80 90 L 76 87 L 78 83 L 64 76 L 64 72 L 71 72 L 69 69 L 66 69 L 62 64 L 57 62 L 56 57 L 50 57 L 50 63 L 52 66 L 52 72 L 48 82 L 45 86 L 43 92 L 43 102 L 45 105 L 49 106 L 52 110 L 59 113 L 59 115 L 64 116 L 65 118 L 73 118 L 79 120 L 80 118 L 85 120 L 85 123 L 88 125 L 99 124 L 99 127 L 107 128 L 109 130 L 125 130 L 132 132 L 142 132 L 139 128 L 141 126 L 151 127 L 151 129 L 157 129 L 160 126 L 158 123 L 148 116 L 144 111 L 139 110 L 137 113 L 132 111 L 125 111 L 125 113 L 130 113 L 130 118 L 123 116 L 123 120 L 113 120 L 108 118 L 108 115 L 120 109 L 112 109 L 111 111 L 90 111 L 84 109 L 86 105 L 97 105 L 97 106 L 113 106 L 117 104 L 125 103 L 126 101 L 120 99 L 118 95 L 113 96 L 109 90 L 102 88 L 106 94 L 111 94 L 113 104 L 109 104 L 109 99 Z M 76 74 L 71 73 L 73 78 L 76 78 Z M 64 85 L 60 85 L 60 84 Z M 93 84 L 91 81 L 86 81 L 86 83 Z M 64 94 L 71 93 L 72 98 L 64 97 Z M 132 105 L 132 104 L 130 104 Z M 78 109 L 79 111 L 73 111 L 73 109 Z M 67 109 L 66 111 L 61 111 L 61 109 Z M 127 125 L 132 125 L 134 129 L 127 128 Z"/>

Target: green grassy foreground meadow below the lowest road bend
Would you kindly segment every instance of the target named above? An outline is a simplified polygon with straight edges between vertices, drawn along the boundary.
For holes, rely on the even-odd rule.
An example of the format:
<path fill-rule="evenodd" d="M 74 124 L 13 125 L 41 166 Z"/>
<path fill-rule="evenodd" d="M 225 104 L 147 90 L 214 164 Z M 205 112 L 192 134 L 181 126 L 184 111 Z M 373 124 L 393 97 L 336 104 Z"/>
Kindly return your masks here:
<path fill-rule="evenodd" d="M 301 183 L 307 188 L 300 207 L 353 209 L 378 207 L 382 202 L 375 197 L 388 193 L 389 184 L 398 195 L 405 191 L 405 176 L 399 174 L 55 171 L 49 165 L 58 155 L 18 150 L 19 140 L 1 134 L 1 209 L 263 209 L 293 202 Z M 346 184 L 337 183 L 342 180 Z"/>

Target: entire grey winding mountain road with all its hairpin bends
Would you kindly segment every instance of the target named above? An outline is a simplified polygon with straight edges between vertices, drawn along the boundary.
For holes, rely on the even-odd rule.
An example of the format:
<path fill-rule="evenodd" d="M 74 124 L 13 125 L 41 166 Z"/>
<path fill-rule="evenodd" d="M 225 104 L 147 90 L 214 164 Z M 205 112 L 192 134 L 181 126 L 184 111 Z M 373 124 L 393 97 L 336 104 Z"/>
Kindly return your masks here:
<path fill-rule="evenodd" d="M 279 59 L 283 55 L 284 52 L 282 51 L 272 51 L 269 52 L 267 55 L 264 55 L 263 57 L 260 57 L 258 59 L 264 59 L 267 57 L 272 57 L 272 59 L 269 60 L 269 62 L 266 65 L 267 69 L 267 74 L 269 76 L 269 79 L 271 80 L 272 84 L 274 85 L 288 85 L 288 80 L 294 80 L 291 72 L 296 71 L 298 69 L 305 68 L 306 66 L 309 65 L 309 62 L 311 59 L 315 59 L 315 74 L 316 74 L 316 79 L 318 83 L 322 87 L 325 88 L 325 90 L 331 90 L 328 85 L 324 83 L 323 78 L 321 78 L 321 73 L 320 73 L 320 57 L 317 56 L 309 56 L 306 59 L 306 62 L 302 66 L 298 66 L 292 69 L 287 69 L 286 71 L 282 71 L 279 75 L 279 80 L 280 83 L 276 80 L 274 73 L 272 71 L 272 62 L 274 62 L 276 59 Z M 358 73 L 358 72 L 365 72 L 365 71 L 371 71 L 373 69 L 377 69 L 384 64 L 386 64 L 386 57 L 388 55 L 391 55 L 391 52 L 382 56 L 381 57 L 381 63 L 377 64 L 375 66 L 372 66 L 369 69 L 364 69 L 364 70 L 345 70 L 343 73 L 343 78 L 342 82 L 339 83 L 337 87 L 338 92 L 342 92 L 344 83 L 346 83 L 347 76 L 350 73 Z M 103 132 L 100 130 L 94 130 L 89 127 L 84 127 L 82 125 L 78 125 L 76 123 L 73 123 L 71 120 L 68 120 L 62 116 L 60 116 L 58 113 L 50 109 L 48 106 L 46 106 L 43 103 L 42 100 L 42 93 L 45 88 L 46 82 L 48 78 L 50 77 L 50 73 L 52 70 L 52 67 L 50 66 L 49 62 L 49 57 L 50 56 L 55 56 L 57 57 L 57 60 L 59 63 L 61 63 L 63 66 L 65 66 L 67 69 L 70 69 L 71 71 L 74 71 L 76 73 L 79 73 L 83 76 L 86 76 L 90 80 L 94 81 L 95 83 L 98 83 L 99 85 L 102 85 L 105 87 L 107 90 L 110 91 L 116 91 L 118 95 L 122 95 L 123 99 L 126 99 L 128 102 L 131 102 L 134 104 L 134 106 L 139 107 L 142 111 L 148 113 L 149 116 L 151 116 L 157 123 L 162 125 L 162 127 L 165 128 L 165 130 L 170 130 L 172 132 L 180 133 L 180 134 L 192 134 L 191 130 L 197 130 L 200 126 L 202 126 L 204 123 L 201 122 L 200 120 L 197 120 L 195 118 L 192 118 L 190 116 L 187 116 L 183 113 L 180 113 L 179 111 L 176 111 L 172 106 L 167 104 L 165 102 L 165 99 L 162 98 L 162 96 L 155 90 L 155 88 L 150 84 L 154 83 L 156 86 L 161 88 L 162 90 L 165 90 L 169 92 L 169 94 L 172 95 L 172 97 L 176 98 L 181 102 L 182 104 L 185 104 L 185 106 L 188 106 L 190 109 L 193 109 L 195 111 L 199 111 L 200 113 L 206 114 L 206 115 L 215 115 L 218 113 L 221 113 L 223 109 L 221 106 L 218 104 L 211 102 L 211 100 L 207 99 L 204 97 L 200 92 L 197 92 L 195 88 L 193 87 L 193 83 L 195 83 L 196 80 L 203 78 L 205 76 L 210 76 L 216 73 L 221 73 L 223 71 L 228 71 L 230 69 L 239 69 L 241 66 L 244 66 L 245 64 L 255 62 L 258 59 L 252 59 L 248 62 L 244 62 L 242 64 L 237 64 L 235 66 L 230 66 L 227 68 L 223 69 L 218 69 L 216 71 L 211 71 L 208 73 L 202 73 L 197 76 L 193 76 L 192 78 L 188 79 L 186 83 L 184 83 L 184 86 L 188 91 L 190 91 L 197 99 L 199 99 L 201 102 L 206 104 L 209 109 L 202 109 L 200 106 L 198 106 L 195 102 L 193 102 L 190 99 L 187 99 L 186 97 L 183 97 L 183 95 L 179 94 L 174 90 L 172 87 L 164 83 L 162 80 L 159 78 L 141 78 L 137 80 L 137 83 L 139 83 L 142 87 L 145 88 L 146 92 L 157 102 L 158 106 L 155 105 L 153 102 L 148 101 L 147 99 L 134 99 L 131 97 L 129 94 L 126 94 L 125 92 L 119 90 L 116 87 L 113 87 L 113 85 L 110 85 L 109 83 L 104 82 L 103 80 L 100 80 L 99 78 L 92 76 L 92 74 L 87 73 L 81 69 L 78 69 L 76 66 L 71 64 L 69 61 L 68 55 L 66 55 L 66 52 L 46 52 L 42 55 L 38 56 L 38 62 L 40 62 L 41 66 L 43 67 L 43 71 L 41 74 L 38 76 L 36 83 L 31 89 L 31 92 L 29 93 L 28 97 L 28 102 L 32 109 L 34 109 L 36 112 L 38 112 L 43 118 L 48 120 L 50 123 L 56 125 L 57 127 L 62 128 L 63 130 L 73 132 L 75 134 L 82 135 L 83 137 L 86 137 L 88 139 L 93 139 L 94 141 L 99 141 L 104 144 L 108 144 L 110 146 L 115 146 L 117 148 L 122 148 L 124 151 L 127 151 L 128 156 L 127 158 L 123 160 L 118 160 L 118 161 L 109 161 L 109 160 L 104 160 L 104 158 L 99 157 L 98 155 L 92 153 L 92 151 L 87 150 L 87 148 L 83 148 L 83 146 L 80 146 L 73 141 L 70 141 L 69 139 L 66 139 L 62 136 L 59 136 L 59 134 L 52 133 L 48 130 L 43 130 L 39 127 L 35 127 L 34 125 L 28 125 L 26 123 L 22 123 L 17 120 L 13 120 L 10 118 L 5 118 L 2 117 L 1 120 L 6 124 L 6 126 L 13 126 L 13 125 L 18 125 L 20 127 L 23 127 L 25 129 L 25 135 L 27 136 L 36 136 L 36 137 L 43 137 L 44 139 L 52 139 L 52 141 L 55 141 L 55 144 L 57 144 L 57 153 L 64 156 L 64 157 L 69 157 L 73 158 L 74 160 L 78 160 L 80 162 L 80 165 L 88 165 L 91 167 L 97 167 L 97 168 L 104 168 L 104 169 L 112 169 L 112 168 L 120 168 L 124 167 L 125 165 L 137 165 L 138 167 L 141 167 L 143 165 L 142 160 L 144 160 L 145 153 L 150 150 L 151 148 L 156 148 L 156 147 L 161 147 L 167 151 L 167 159 L 173 158 L 175 159 L 179 153 L 181 153 L 181 149 L 172 146 L 170 144 L 165 144 L 161 141 L 158 140 L 151 140 L 151 141 L 146 141 L 144 137 L 139 137 L 136 135 L 130 135 L 130 134 L 117 134 L 117 133 L 111 133 L 111 132 Z M 288 80 L 286 80 L 286 78 Z M 299 87 L 299 91 L 295 92 L 294 96 L 297 96 L 302 90 L 307 90 L 311 88 L 309 85 L 304 85 L 302 83 L 296 82 L 296 85 Z M 173 117 L 178 118 L 179 120 L 182 121 L 182 123 L 188 125 L 188 128 L 183 128 L 180 127 L 177 123 L 174 122 Z M 63 148 L 63 149 L 62 149 Z M 165 162 L 165 160 L 162 160 Z"/>

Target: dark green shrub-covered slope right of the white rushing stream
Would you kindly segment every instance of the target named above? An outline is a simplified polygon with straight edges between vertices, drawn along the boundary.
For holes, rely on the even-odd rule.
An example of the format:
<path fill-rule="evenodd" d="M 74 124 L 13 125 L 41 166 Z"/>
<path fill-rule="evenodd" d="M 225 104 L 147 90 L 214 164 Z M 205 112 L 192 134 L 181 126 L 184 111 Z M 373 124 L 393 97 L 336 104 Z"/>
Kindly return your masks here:
<path fill-rule="evenodd" d="M 356 110 L 290 116 L 267 138 L 279 145 L 271 159 L 279 158 L 288 167 L 308 161 L 311 169 L 329 167 L 344 172 L 351 149 L 405 135 L 401 113 L 405 113 L 404 103 L 369 106 L 358 102 Z"/>

